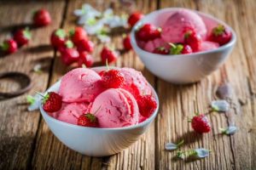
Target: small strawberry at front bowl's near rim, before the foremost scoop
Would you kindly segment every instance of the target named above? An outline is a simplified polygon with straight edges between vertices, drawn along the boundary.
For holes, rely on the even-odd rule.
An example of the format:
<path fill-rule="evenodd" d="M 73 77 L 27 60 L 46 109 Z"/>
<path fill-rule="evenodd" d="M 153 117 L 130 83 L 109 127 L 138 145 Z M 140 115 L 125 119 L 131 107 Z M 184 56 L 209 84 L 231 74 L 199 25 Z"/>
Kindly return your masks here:
<path fill-rule="evenodd" d="M 99 127 L 97 117 L 90 113 L 79 116 L 77 124 L 82 127 Z"/>

